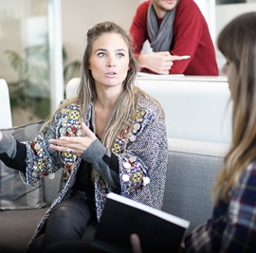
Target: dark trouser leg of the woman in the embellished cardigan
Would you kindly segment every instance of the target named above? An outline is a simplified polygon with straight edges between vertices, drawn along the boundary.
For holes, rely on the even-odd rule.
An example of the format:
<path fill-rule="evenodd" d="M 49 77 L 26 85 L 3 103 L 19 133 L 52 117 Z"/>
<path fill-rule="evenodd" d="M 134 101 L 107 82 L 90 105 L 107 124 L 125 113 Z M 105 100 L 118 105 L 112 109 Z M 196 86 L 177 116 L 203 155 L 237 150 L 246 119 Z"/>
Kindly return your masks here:
<path fill-rule="evenodd" d="M 96 212 L 80 192 L 53 208 L 46 222 L 44 235 L 30 245 L 27 253 L 43 252 L 47 246 L 64 241 L 81 241 L 89 222 L 96 220 Z"/>

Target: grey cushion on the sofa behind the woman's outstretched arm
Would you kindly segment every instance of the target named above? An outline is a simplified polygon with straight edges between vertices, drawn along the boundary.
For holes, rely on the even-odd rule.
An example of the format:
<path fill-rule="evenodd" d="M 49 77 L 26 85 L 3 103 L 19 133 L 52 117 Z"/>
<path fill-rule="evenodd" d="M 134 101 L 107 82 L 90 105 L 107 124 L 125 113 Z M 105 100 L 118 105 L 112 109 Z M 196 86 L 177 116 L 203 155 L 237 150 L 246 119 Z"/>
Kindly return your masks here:
<path fill-rule="evenodd" d="M 44 121 L 41 121 L 1 131 L 19 141 L 26 141 L 37 136 L 43 124 Z M 18 171 L 0 161 L 0 209 L 33 209 L 45 206 L 43 182 L 35 187 L 25 185 Z"/>

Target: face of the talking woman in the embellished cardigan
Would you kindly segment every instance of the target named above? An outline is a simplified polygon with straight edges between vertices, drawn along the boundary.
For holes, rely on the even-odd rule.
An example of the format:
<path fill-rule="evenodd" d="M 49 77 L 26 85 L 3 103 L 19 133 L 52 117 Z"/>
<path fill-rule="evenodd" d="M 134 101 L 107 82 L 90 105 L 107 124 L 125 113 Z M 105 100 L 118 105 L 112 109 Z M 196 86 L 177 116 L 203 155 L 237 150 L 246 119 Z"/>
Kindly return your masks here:
<path fill-rule="evenodd" d="M 122 89 L 122 82 L 129 68 L 128 46 L 121 35 L 105 33 L 95 41 L 89 60 L 89 69 L 96 87 Z"/>

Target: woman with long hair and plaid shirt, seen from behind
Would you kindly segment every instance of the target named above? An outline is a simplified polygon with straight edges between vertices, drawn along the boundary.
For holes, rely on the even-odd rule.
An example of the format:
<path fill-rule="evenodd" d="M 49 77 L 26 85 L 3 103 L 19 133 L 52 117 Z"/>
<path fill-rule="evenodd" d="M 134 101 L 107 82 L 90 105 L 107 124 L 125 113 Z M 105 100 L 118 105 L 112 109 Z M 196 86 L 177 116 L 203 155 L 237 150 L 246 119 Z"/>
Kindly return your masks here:
<path fill-rule="evenodd" d="M 256 12 L 232 20 L 218 47 L 227 58 L 232 143 L 212 191 L 212 217 L 187 237 L 185 252 L 256 252 Z M 141 252 L 137 235 L 131 241 Z"/>

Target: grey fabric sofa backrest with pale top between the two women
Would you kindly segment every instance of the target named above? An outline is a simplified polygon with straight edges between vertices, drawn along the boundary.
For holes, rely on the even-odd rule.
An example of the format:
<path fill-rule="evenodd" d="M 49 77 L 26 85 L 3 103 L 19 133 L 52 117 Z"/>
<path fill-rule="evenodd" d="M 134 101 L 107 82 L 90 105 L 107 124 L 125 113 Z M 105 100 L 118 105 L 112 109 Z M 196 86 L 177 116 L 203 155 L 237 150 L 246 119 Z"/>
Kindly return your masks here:
<path fill-rule="evenodd" d="M 210 219 L 210 192 L 229 144 L 169 138 L 163 210 L 191 222 L 189 231 Z"/>

